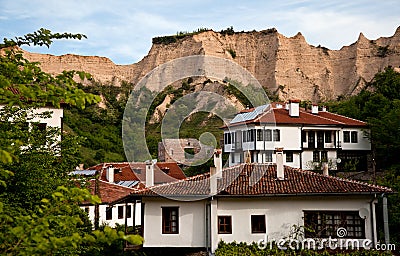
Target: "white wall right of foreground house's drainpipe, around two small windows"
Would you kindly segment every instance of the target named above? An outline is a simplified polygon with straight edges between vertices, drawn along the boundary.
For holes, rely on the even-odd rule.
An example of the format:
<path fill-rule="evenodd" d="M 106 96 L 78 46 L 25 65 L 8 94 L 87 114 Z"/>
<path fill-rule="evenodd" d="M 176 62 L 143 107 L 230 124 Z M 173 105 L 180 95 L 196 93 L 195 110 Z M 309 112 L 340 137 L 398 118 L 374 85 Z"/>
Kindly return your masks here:
<path fill-rule="evenodd" d="M 293 225 L 304 226 L 305 210 L 358 211 L 365 208 L 369 211 L 370 199 L 360 198 L 320 198 L 307 199 L 218 199 L 218 215 L 232 216 L 232 234 L 218 234 L 218 242 L 242 241 L 258 242 L 260 239 L 287 237 Z M 266 234 L 251 233 L 251 215 L 266 215 Z M 370 213 L 369 213 L 370 214 Z M 365 221 L 366 239 L 372 240 L 371 216 Z"/>

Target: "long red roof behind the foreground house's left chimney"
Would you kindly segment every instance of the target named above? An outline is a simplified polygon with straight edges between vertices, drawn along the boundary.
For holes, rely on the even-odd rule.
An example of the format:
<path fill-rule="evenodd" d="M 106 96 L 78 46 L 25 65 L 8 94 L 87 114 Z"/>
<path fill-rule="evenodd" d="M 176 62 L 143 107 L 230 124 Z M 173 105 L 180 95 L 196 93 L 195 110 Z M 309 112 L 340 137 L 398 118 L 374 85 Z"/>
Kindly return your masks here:
<path fill-rule="evenodd" d="M 114 182 L 119 181 L 146 181 L 145 163 L 102 163 L 88 168 L 88 170 L 97 170 L 100 172 L 100 180 L 107 180 L 106 168 L 113 166 L 117 170 L 114 172 Z M 169 169 L 167 169 L 169 168 Z M 154 183 L 161 184 L 173 182 L 177 179 L 186 178 L 182 169 L 176 163 L 156 163 L 154 168 Z"/>

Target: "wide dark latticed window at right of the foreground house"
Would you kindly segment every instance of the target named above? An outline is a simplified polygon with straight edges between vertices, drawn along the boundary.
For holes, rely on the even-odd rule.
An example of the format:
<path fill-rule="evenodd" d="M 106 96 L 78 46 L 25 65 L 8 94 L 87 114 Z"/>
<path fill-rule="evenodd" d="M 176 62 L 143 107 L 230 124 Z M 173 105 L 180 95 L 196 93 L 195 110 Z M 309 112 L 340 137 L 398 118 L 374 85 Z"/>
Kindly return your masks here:
<path fill-rule="evenodd" d="M 306 237 L 337 237 L 337 229 L 345 228 L 344 238 L 365 238 L 365 220 L 358 211 L 305 211 Z"/>

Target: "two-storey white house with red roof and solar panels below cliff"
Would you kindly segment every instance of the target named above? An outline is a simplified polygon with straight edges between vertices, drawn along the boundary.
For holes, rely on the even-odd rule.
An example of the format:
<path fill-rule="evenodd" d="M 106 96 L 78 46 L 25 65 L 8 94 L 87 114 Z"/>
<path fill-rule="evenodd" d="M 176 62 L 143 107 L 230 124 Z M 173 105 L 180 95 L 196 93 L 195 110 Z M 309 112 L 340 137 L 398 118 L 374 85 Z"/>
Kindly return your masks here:
<path fill-rule="evenodd" d="M 341 170 L 352 163 L 367 170 L 371 143 L 365 122 L 319 110 L 300 108 L 298 100 L 272 103 L 237 114 L 224 129 L 224 152 L 229 166 L 243 163 L 247 154 L 254 163 L 273 163 L 276 148 L 283 148 L 285 165 L 312 170 L 327 163 Z"/>

